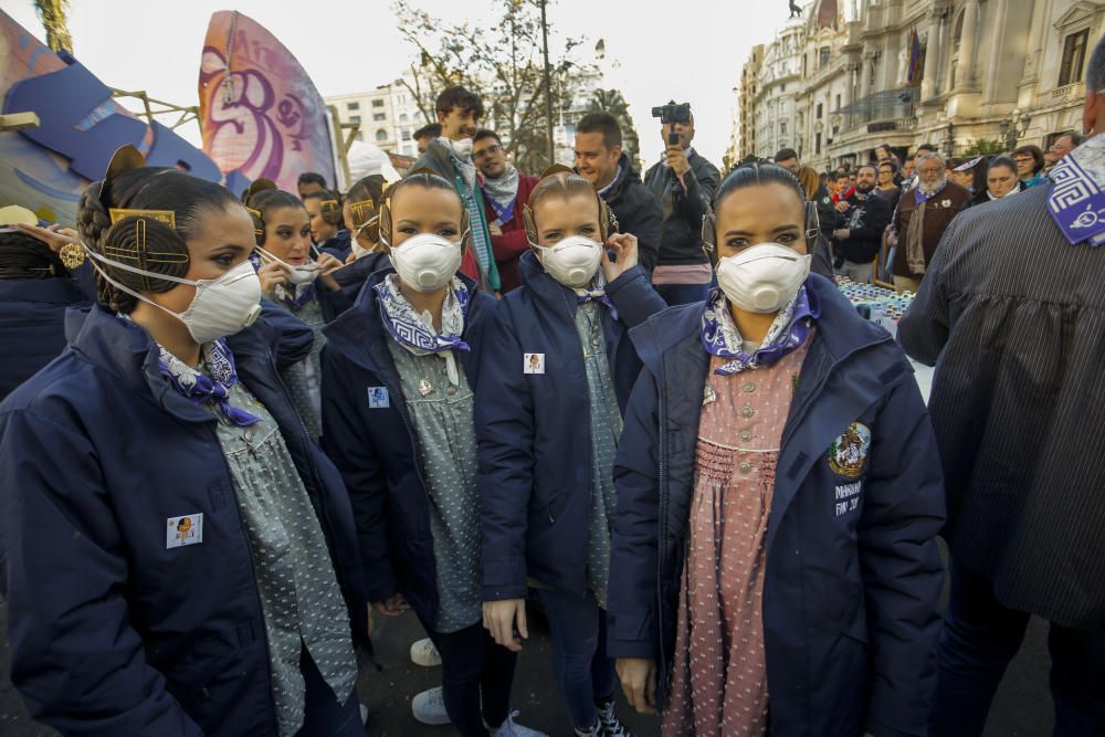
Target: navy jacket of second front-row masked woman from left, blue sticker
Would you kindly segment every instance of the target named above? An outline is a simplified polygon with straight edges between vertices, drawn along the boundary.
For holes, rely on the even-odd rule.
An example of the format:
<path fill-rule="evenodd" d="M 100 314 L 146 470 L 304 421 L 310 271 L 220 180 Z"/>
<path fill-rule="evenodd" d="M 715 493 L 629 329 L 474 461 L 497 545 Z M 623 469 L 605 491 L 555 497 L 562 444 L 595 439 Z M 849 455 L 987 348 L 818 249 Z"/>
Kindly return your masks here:
<path fill-rule="evenodd" d="M 323 328 L 323 444 L 341 472 L 352 512 L 365 571 L 366 601 L 403 594 L 424 622 L 438 617 L 436 565 L 430 534 L 430 495 L 415 453 L 414 425 L 403 401 L 391 336 L 380 319 L 372 287 L 391 269 L 379 271 L 361 288 L 356 304 Z M 464 317 L 460 350 L 469 386 L 478 379 L 485 323 L 495 298 L 476 291 Z M 370 390 L 387 390 L 386 407 L 370 407 Z"/>

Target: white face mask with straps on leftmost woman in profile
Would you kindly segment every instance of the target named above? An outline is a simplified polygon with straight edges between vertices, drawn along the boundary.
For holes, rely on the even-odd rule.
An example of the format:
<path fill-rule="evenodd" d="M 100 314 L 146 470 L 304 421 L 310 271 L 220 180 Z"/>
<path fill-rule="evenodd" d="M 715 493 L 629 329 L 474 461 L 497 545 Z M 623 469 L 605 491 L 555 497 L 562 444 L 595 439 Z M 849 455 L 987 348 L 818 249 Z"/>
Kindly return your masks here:
<path fill-rule="evenodd" d="M 234 335 L 242 330 L 242 328 L 253 325 L 261 315 L 261 280 L 257 278 L 256 272 L 253 271 L 253 264 L 249 261 L 243 261 L 218 278 L 190 280 L 135 269 L 134 266 L 106 259 L 87 246 L 85 246 L 85 252 L 95 260 L 91 262 L 92 265 L 96 267 L 96 271 L 109 284 L 179 319 L 188 328 L 188 333 L 191 334 L 192 339 L 200 345 Z M 152 299 L 144 297 L 134 289 L 119 284 L 108 276 L 96 264 L 96 261 L 110 264 L 115 269 L 143 274 L 150 278 L 160 278 L 178 284 L 191 284 L 196 287 L 196 295 L 192 297 L 191 304 L 188 305 L 188 309 L 182 313 L 175 313 L 168 307 L 162 307 Z"/>

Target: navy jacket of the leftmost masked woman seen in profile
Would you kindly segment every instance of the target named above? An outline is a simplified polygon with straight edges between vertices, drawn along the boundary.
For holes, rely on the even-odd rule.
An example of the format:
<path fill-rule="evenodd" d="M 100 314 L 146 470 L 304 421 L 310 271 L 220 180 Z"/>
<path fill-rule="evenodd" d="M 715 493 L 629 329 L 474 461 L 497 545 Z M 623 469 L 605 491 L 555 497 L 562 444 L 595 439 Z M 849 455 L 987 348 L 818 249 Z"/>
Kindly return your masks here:
<path fill-rule="evenodd" d="M 326 530 L 354 632 L 367 632 L 348 496 L 277 373 L 312 333 L 277 310 L 229 343 Z M 106 308 L 71 309 L 66 335 L 0 404 L 13 684 L 31 716 L 66 735 L 275 734 L 261 600 L 214 415 L 165 381 L 145 330 Z M 202 543 L 166 549 L 166 520 L 186 514 L 203 515 Z"/>

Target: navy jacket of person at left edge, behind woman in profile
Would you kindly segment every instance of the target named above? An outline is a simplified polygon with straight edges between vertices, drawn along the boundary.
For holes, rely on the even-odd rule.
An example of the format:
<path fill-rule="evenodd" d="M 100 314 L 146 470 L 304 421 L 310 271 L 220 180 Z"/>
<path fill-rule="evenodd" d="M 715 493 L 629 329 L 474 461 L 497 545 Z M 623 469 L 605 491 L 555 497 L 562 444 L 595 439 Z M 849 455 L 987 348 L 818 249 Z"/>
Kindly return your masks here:
<path fill-rule="evenodd" d="M 72 278 L 0 280 L 0 400 L 65 348 L 65 310 L 86 304 Z"/>

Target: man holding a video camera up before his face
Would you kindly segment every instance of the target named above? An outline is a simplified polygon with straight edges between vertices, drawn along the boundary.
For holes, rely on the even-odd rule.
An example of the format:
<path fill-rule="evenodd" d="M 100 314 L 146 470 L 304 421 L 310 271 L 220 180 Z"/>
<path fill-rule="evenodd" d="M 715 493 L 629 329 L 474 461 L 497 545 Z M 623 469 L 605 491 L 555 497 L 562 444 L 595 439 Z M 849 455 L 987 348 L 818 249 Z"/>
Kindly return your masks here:
<path fill-rule="evenodd" d="M 652 283 L 669 305 L 702 302 L 714 277 L 702 249 L 702 218 L 722 176 L 691 148 L 693 116 L 687 123 L 665 123 L 660 131 L 665 144 L 663 158 L 644 175 L 644 186 L 660 202 L 664 217 Z M 672 133 L 678 136 L 677 144 L 669 143 Z"/>

